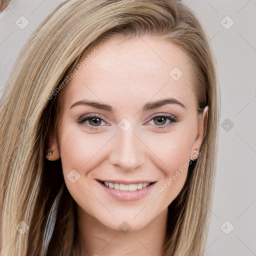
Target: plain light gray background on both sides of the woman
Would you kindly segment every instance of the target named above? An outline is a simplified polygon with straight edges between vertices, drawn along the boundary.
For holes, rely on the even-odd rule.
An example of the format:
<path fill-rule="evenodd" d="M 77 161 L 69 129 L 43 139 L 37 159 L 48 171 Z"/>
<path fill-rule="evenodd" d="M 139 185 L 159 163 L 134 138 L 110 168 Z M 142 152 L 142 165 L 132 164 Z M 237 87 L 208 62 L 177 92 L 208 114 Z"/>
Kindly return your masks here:
<path fill-rule="evenodd" d="M 0 13 L 0 94 L 22 46 L 60 2 L 11 0 Z M 217 177 L 205 255 L 256 255 L 256 0 L 183 3 L 209 36 L 221 92 Z M 29 22 L 23 29 L 15 23 L 21 23 L 20 16 Z"/>

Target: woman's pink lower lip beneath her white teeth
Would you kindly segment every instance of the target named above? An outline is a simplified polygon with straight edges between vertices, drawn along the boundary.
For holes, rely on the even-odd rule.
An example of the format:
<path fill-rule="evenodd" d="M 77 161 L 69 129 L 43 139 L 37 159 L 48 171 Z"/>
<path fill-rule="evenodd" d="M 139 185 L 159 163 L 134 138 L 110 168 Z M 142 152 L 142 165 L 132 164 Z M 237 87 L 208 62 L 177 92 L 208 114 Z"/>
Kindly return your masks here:
<path fill-rule="evenodd" d="M 104 184 L 102 184 L 98 180 L 97 180 L 97 182 L 104 189 L 104 191 L 106 193 L 108 193 L 114 199 L 116 199 L 118 201 L 136 201 L 136 200 L 139 200 L 139 199 L 145 197 L 147 194 L 149 194 L 149 192 L 152 190 L 152 188 L 154 187 L 154 185 L 156 183 L 156 182 L 154 182 L 149 186 L 146 186 L 146 187 L 141 188 L 141 189 L 137 189 L 135 191 L 121 191 L 121 190 L 118 190 L 118 189 L 114 189 L 114 188 L 110 188 L 108 186 L 105 186 Z"/>

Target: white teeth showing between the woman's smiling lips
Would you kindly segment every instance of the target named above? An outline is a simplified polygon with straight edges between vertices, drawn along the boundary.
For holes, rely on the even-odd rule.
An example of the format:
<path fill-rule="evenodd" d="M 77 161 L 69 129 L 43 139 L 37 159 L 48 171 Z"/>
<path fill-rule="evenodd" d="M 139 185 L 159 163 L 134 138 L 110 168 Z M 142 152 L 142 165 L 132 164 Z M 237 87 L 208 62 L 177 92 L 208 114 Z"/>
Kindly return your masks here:
<path fill-rule="evenodd" d="M 154 184 L 156 181 L 153 182 L 132 182 L 132 183 L 127 183 L 127 182 L 107 182 L 103 180 L 98 180 L 100 183 L 102 183 L 104 186 L 115 189 L 115 190 L 120 190 L 120 191 L 136 191 L 143 189 L 145 187 L 148 187 L 152 184 Z M 124 184 L 125 183 L 125 184 Z"/>

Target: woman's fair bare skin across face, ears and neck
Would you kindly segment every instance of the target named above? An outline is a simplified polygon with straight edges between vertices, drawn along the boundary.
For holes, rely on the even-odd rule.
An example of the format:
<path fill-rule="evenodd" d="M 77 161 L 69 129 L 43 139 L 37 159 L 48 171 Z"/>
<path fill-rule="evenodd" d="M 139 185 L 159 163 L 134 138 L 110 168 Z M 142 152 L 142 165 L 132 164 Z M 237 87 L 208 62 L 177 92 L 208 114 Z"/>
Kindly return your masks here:
<path fill-rule="evenodd" d="M 51 136 L 50 160 L 61 156 L 65 183 L 77 203 L 79 232 L 89 255 L 160 256 L 167 206 L 180 192 L 187 168 L 179 171 L 154 201 L 149 196 L 164 184 L 166 187 L 176 170 L 199 151 L 207 107 L 198 115 L 188 58 L 170 41 L 154 36 L 123 41 L 112 37 L 97 49 L 99 52 L 62 91 L 62 115 L 57 136 Z M 178 80 L 169 75 L 173 67 L 183 73 Z M 185 108 L 172 103 L 142 110 L 148 101 L 169 97 Z M 71 107 L 85 99 L 109 104 L 114 112 L 83 104 Z M 101 120 L 77 123 L 88 113 L 99 115 Z M 153 119 L 161 114 L 175 116 L 176 122 Z M 126 131 L 118 127 L 123 118 L 131 123 Z M 90 128 L 95 126 L 98 129 Z M 71 170 L 80 175 L 74 183 L 67 177 Z M 157 181 L 152 191 L 128 202 L 109 196 L 96 181 L 148 178 Z M 130 226 L 127 233 L 118 228 L 123 221 Z"/>

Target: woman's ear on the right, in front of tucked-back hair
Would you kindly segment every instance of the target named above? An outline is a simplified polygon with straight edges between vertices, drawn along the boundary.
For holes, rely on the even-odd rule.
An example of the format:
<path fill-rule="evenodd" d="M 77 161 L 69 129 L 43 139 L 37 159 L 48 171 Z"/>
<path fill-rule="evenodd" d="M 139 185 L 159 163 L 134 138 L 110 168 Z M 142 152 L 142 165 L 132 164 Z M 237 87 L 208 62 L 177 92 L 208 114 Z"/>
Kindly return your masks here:
<path fill-rule="evenodd" d="M 207 115 L 208 115 L 208 106 L 205 106 L 203 109 L 203 113 L 201 116 L 198 117 L 198 130 L 197 136 L 193 142 L 190 159 L 195 160 L 197 156 L 200 154 L 200 146 L 203 139 L 204 130 L 207 123 Z"/>

